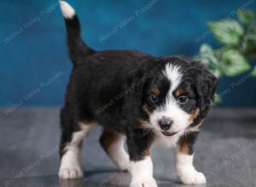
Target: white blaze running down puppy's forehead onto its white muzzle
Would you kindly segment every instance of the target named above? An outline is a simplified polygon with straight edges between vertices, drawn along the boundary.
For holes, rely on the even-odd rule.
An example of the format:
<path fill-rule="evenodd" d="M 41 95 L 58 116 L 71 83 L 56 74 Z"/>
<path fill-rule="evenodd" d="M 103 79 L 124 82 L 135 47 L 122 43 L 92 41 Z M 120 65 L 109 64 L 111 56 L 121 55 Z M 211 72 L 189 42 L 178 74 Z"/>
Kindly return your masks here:
<path fill-rule="evenodd" d="M 160 119 L 162 119 L 163 116 L 170 117 L 173 124 L 168 132 L 177 133 L 181 131 L 181 133 L 183 133 L 184 129 L 189 126 L 189 114 L 177 105 L 177 101 L 173 96 L 173 92 L 180 84 L 183 74 L 177 65 L 172 65 L 171 63 L 166 65 L 166 69 L 163 71 L 163 74 L 170 80 L 171 85 L 168 93 L 166 94 L 165 103 L 152 113 L 149 120 L 154 128 L 160 132 Z"/>

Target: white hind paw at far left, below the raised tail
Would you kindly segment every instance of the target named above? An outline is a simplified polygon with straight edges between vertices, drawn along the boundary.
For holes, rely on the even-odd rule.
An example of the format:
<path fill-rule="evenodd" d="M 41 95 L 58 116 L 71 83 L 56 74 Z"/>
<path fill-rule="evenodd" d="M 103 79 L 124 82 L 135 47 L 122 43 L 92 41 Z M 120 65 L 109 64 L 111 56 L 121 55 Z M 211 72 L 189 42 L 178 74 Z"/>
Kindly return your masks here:
<path fill-rule="evenodd" d="M 82 171 L 81 167 L 60 168 L 59 177 L 61 179 L 83 178 L 83 171 Z"/>

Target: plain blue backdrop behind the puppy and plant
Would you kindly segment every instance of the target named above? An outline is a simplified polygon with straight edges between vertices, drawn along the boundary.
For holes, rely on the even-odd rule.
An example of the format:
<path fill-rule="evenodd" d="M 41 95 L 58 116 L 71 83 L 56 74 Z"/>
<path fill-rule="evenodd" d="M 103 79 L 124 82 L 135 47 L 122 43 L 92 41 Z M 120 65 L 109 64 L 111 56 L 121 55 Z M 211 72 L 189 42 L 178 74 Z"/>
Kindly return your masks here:
<path fill-rule="evenodd" d="M 236 17 L 256 1 L 68 1 L 79 14 L 84 41 L 96 50 L 136 48 L 156 56 L 197 54 L 218 47 L 207 20 Z M 0 106 L 61 105 L 71 70 L 65 26 L 53 0 L 1 0 Z M 220 106 L 256 106 L 256 79 L 220 80 Z"/>

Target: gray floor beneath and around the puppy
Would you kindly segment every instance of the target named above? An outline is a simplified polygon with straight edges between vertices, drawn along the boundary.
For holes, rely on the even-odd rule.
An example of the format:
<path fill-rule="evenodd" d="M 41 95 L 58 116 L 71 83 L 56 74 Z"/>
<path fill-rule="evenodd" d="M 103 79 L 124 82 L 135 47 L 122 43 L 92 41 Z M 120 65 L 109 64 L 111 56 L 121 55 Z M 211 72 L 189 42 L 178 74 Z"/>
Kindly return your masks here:
<path fill-rule="evenodd" d="M 97 127 L 84 142 L 84 179 L 61 181 L 58 142 L 59 111 L 52 108 L 0 110 L 0 185 L 2 186 L 127 186 L 100 145 Z M 180 184 L 172 150 L 154 147 L 154 176 L 159 186 Z M 256 110 L 212 110 L 195 146 L 195 166 L 207 186 L 256 186 Z M 205 186 L 205 185 L 203 185 Z"/>

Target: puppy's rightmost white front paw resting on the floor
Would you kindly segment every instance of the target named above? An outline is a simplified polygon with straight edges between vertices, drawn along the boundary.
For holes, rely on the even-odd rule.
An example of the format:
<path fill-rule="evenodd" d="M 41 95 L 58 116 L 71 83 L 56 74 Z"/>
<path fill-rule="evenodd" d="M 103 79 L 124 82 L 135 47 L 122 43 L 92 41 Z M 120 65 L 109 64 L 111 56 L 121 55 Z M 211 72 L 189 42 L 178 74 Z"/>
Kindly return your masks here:
<path fill-rule="evenodd" d="M 197 172 L 195 169 L 182 171 L 178 173 L 183 184 L 206 184 L 207 178 L 203 173 Z"/>

